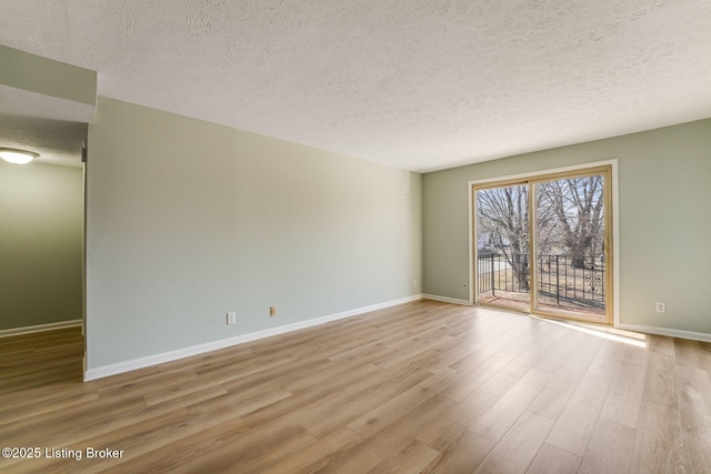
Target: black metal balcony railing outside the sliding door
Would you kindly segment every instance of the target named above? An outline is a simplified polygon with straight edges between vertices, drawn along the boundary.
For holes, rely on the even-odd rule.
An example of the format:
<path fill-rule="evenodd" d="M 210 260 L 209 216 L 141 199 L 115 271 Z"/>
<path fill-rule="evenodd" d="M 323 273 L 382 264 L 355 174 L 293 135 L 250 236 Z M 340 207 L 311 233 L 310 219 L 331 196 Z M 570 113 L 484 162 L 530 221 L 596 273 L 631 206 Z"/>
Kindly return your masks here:
<path fill-rule="evenodd" d="M 479 294 L 530 290 L 528 254 L 479 254 L 477 266 Z M 602 256 L 539 255 L 535 266 L 539 297 L 551 304 L 604 307 Z"/>

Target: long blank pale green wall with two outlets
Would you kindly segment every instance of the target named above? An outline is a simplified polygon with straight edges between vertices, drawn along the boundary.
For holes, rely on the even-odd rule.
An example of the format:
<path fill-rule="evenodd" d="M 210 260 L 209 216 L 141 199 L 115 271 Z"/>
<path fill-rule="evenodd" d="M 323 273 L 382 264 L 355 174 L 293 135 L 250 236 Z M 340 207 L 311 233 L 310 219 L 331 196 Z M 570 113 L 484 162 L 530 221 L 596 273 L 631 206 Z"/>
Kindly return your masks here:
<path fill-rule="evenodd" d="M 100 98 L 87 175 L 89 369 L 421 292 L 417 173 Z"/>

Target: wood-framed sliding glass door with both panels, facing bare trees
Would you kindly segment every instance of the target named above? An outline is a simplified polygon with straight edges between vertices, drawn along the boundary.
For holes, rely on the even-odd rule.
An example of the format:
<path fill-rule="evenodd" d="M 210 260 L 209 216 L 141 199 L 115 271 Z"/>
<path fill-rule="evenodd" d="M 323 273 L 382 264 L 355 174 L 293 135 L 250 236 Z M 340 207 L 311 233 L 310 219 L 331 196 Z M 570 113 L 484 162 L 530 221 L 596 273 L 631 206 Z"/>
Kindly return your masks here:
<path fill-rule="evenodd" d="M 479 304 L 611 321 L 610 169 L 474 185 Z"/>

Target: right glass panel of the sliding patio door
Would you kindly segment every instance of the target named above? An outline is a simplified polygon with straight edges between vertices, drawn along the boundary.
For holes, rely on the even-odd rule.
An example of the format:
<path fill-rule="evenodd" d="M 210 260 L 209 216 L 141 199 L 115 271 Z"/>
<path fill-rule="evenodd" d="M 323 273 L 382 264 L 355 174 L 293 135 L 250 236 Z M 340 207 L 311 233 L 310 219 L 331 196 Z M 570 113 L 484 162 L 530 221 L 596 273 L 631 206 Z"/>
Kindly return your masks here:
<path fill-rule="evenodd" d="M 605 174 L 534 186 L 534 310 L 607 322 Z"/>

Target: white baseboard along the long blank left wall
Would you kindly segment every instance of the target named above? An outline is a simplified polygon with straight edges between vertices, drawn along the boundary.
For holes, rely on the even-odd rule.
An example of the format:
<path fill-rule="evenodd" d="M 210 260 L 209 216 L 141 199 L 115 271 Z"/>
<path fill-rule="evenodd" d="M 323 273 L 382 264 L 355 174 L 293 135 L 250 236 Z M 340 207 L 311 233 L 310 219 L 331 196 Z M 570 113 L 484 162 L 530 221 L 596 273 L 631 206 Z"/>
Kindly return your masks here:
<path fill-rule="evenodd" d="M 317 326 L 320 324 L 330 323 L 332 321 L 343 320 L 346 317 L 357 316 L 359 314 L 369 313 L 371 311 L 383 310 L 385 307 L 397 306 L 399 304 L 410 303 L 412 301 L 422 300 L 421 294 L 402 297 L 399 300 L 392 300 L 384 303 L 372 304 L 370 306 L 363 306 L 356 310 L 344 311 L 342 313 L 330 314 L 327 316 L 316 317 L 312 320 L 300 321 L 293 324 L 286 324 L 283 326 L 270 327 L 263 331 L 257 331 L 249 334 L 242 334 L 234 337 L 222 339 L 219 341 L 208 342 L 206 344 L 193 345 L 190 347 L 179 349 L 177 351 L 163 352 L 156 355 L 149 355 L 147 357 L 133 359 L 131 361 L 119 362 L 118 364 L 104 365 L 102 367 L 89 369 L 84 372 L 84 382 L 107 377 L 110 375 L 121 374 L 123 372 L 130 372 L 138 369 L 149 367 L 151 365 L 164 364 L 167 362 L 177 361 L 179 359 L 190 357 L 192 355 L 203 354 L 206 352 L 217 351 L 224 347 L 230 347 L 237 344 L 243 344 L 246 342 L 257 341 L 272 335 L 279 335 L 289 333 L 292 331 L 299 331 L 302 329 Z"/>

